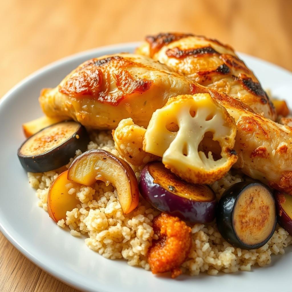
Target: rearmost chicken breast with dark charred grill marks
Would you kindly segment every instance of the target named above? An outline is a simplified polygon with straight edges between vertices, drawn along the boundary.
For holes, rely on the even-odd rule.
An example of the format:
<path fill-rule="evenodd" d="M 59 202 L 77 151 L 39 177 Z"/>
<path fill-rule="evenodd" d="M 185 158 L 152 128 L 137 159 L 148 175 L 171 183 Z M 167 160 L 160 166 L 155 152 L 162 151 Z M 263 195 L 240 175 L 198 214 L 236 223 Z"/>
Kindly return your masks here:
<path fill-rule="evenodd" d="M 227 93 L 271 120 L 276 111 L 253 72 L 233 48 L 217 40 L 192 34 L 147 36 L 136 53 L 168 65 L 192 81 Z"/>

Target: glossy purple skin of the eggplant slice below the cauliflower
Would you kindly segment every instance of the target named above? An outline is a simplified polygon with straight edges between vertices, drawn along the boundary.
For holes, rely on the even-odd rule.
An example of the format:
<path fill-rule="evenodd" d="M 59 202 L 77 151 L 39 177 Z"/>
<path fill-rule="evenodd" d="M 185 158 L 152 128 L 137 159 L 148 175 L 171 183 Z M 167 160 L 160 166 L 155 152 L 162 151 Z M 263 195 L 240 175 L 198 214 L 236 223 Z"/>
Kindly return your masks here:
<path fill-rule="evenodd" d="M 152 177 L 148 170 L 149 166 L 153 166 L 153 164 L 162 163 L 160 161 L 148 163 L 143 168 L 139 179 L 140 194 L 146 201 L 162 212 L 192 223 L 209 223 L 215 219 L 217 200 L 210 187 L 206 185 L 204 186 L 207 188 L 208 192 L 214 194 L 211 201 L 196 201 L 190 198 L 180 197 L 179 195 L 168 191 L 158 183 L 155 183 L 155 178 Z M 171 173 L 170 170 L 165 168 L 165 171 L 167 175 L 170 175 L 175 180 L 183 182 L 186 187 L 192 185 L 182 181 L 176 175 Z M 174 190 L 171 184 L 168 187 L 170 190 Z M 202 187 L 202 185 L 200 185 L 200 187 Z"/>

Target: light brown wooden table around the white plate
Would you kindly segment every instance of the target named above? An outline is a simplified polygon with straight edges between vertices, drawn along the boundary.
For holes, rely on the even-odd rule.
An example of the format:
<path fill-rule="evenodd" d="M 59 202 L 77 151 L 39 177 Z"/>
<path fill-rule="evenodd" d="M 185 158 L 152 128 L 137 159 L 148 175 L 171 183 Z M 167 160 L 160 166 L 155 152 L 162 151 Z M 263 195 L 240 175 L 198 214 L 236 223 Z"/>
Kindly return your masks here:
<path fill-rule="evenodd" d="M 0 97 L 28 74 L 98 46 L 179 31 L 214 37 L 292 70 L 290 0 L 2 1 Z M 22 256 L 0 233 L 0 291 L 77 291 Z"/>

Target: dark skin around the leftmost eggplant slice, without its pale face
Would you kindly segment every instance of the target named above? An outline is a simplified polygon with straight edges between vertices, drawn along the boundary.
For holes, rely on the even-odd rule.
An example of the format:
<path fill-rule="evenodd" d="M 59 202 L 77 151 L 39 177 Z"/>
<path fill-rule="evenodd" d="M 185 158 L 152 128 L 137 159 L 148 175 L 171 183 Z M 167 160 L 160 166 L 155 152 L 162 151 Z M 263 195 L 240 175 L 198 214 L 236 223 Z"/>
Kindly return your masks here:
<path fill-rule="evenodd" d="M 67 121 L 62 121 L 60 122 L 60 124 L 65 122 Z M 41 129 L 36 134 L 55 125 L 56 124 L 53 124 L 44 129 Z M 29 137 L 27 140 L 33 139 L 34 135 Z M 76 138 L 76 135 L 79 136 L 79 139 Z M 74 133 L 74 135 L 70 136 L 61 145 L 58 145 L 57 147 L 52 148 L 45 153 L 29 156 L 21 154 L 21 148 L 25 144 L 25 142 L 27 142 L 27 140 L 22 143 L 17 151 L 18 159 L 25 171 L 41 173 L 55 170 L 66 165 L 69 162 L 70 158 L 75 156 L 76 150 L 80 149 L 82 152 L 87 150 L 87 145 L 90 141 L 90 138 L 86 131 L 86 128 L 80 124 L 78 130 Z"/>

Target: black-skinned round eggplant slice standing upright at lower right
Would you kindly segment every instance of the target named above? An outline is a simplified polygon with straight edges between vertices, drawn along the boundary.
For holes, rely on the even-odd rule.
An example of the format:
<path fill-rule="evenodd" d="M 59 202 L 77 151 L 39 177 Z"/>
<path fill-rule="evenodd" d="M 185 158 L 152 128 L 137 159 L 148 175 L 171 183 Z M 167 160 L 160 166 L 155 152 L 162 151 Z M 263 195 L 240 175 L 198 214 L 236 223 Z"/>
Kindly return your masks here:
<path fill-rule="evenodd" d="M 261 183 L 236 183 L 219 200 L 216 223 L 230 244 L 243 249 L 259 248 L 275 231 L 274 197 Z"/>

